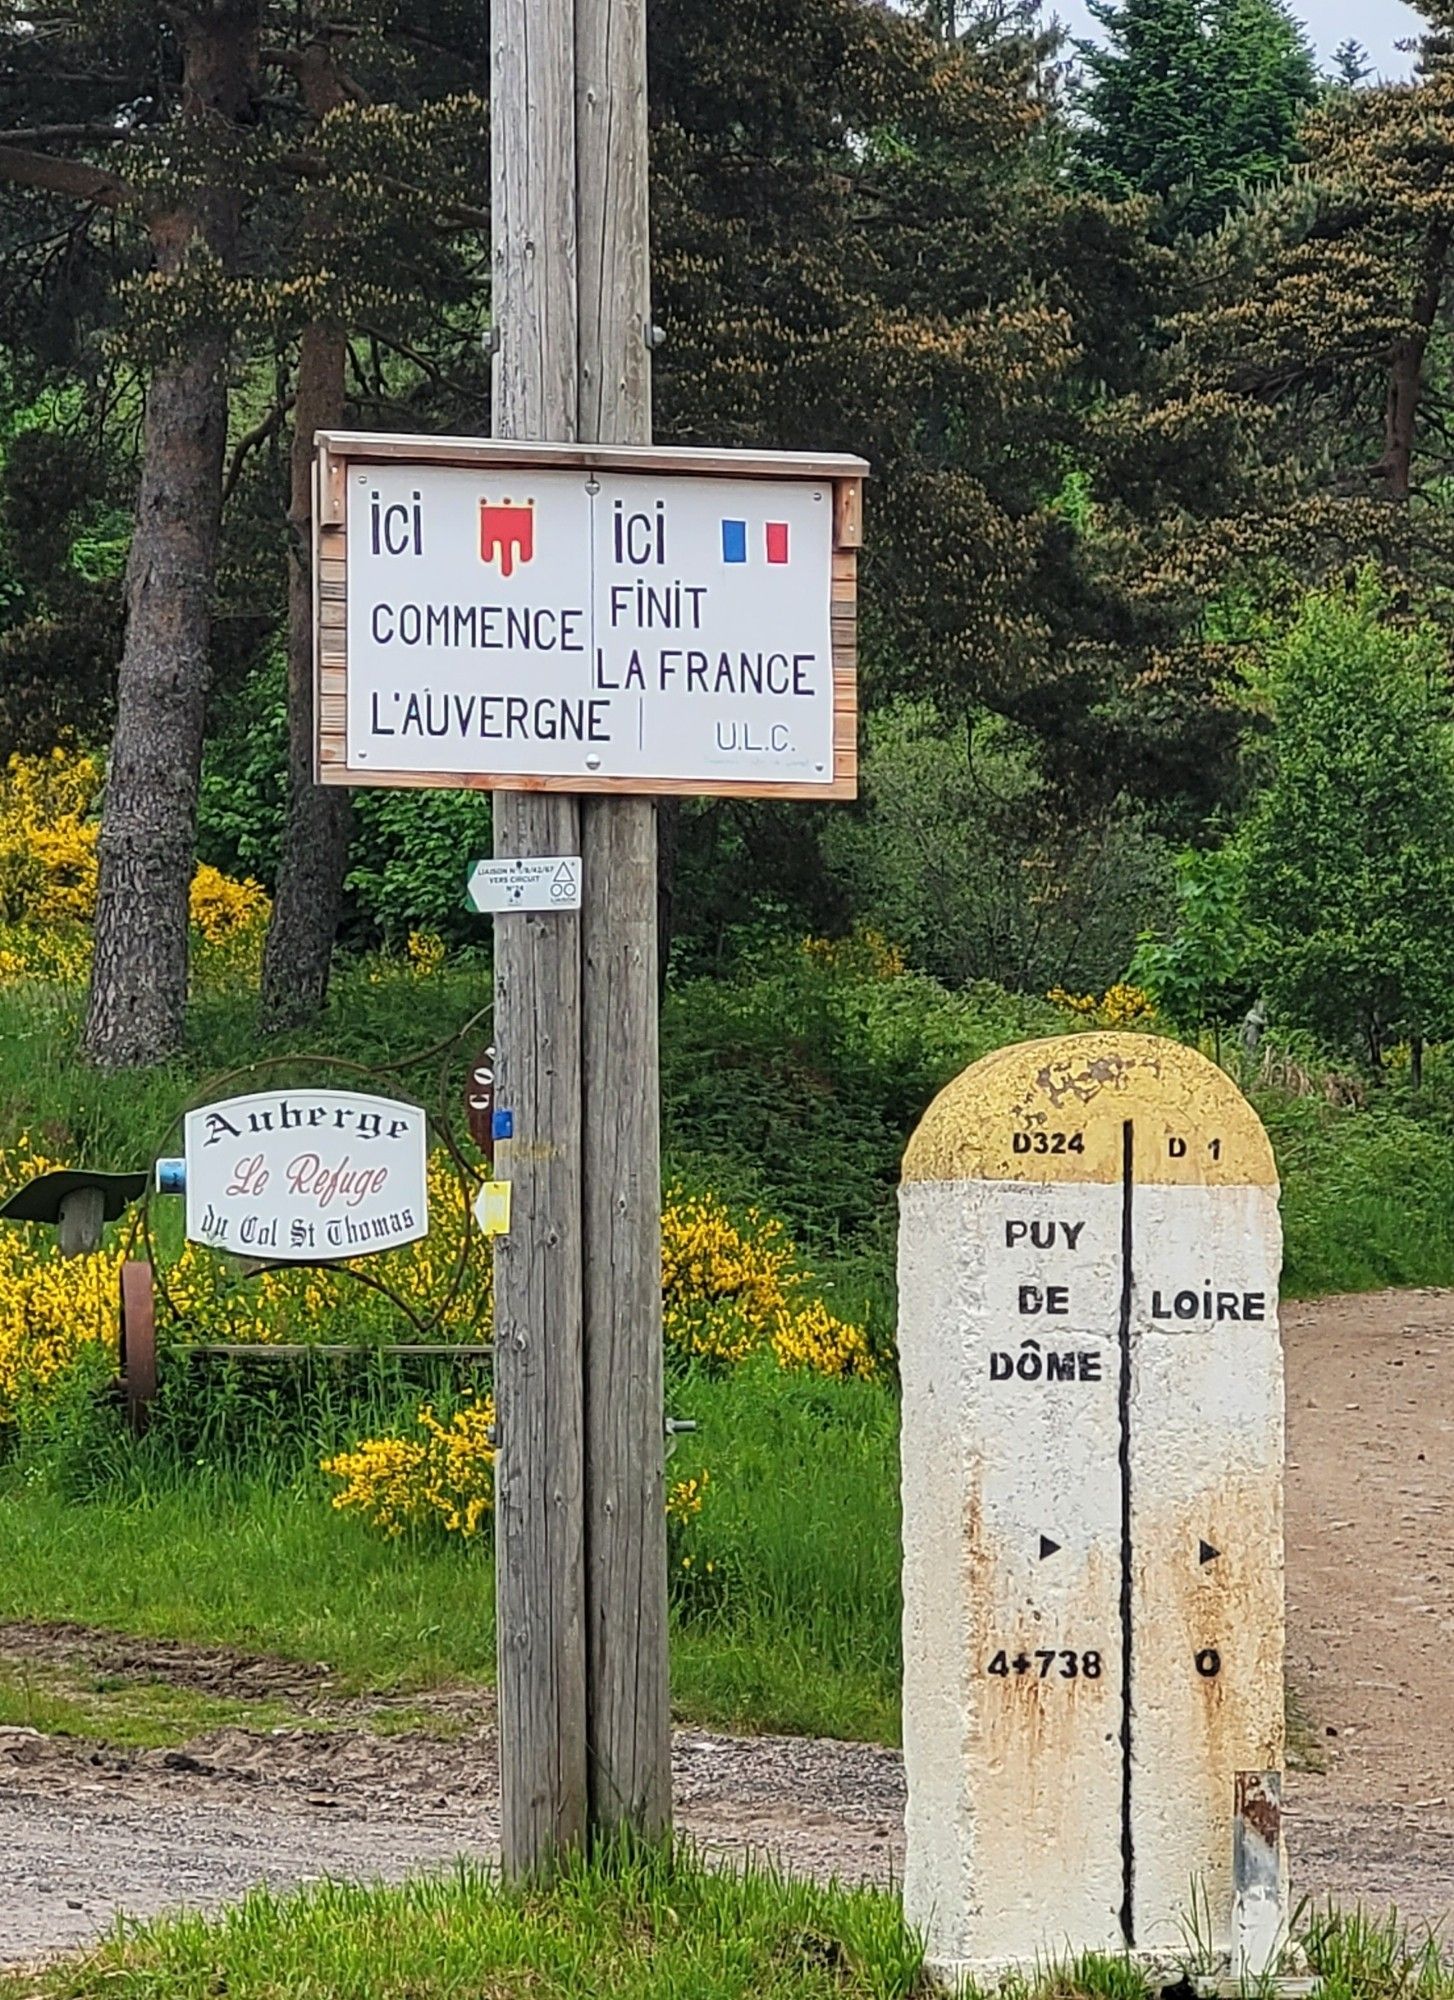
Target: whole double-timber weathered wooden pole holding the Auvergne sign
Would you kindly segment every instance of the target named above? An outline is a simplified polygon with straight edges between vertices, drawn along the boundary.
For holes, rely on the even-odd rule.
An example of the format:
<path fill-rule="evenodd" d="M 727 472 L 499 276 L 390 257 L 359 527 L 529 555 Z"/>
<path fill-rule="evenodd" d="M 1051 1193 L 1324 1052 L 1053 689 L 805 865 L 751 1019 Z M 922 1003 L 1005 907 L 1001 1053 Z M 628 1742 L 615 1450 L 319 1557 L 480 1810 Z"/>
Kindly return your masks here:
<path fill-rule="evenodd" d="M 644 0 L 492 0 L 494 428 L 650 442 Z M 498 856 L 582 854 L 580 918 L 496 920 L 502 1854 L 670 1824 L 646 798 L 498 792 Z"/>

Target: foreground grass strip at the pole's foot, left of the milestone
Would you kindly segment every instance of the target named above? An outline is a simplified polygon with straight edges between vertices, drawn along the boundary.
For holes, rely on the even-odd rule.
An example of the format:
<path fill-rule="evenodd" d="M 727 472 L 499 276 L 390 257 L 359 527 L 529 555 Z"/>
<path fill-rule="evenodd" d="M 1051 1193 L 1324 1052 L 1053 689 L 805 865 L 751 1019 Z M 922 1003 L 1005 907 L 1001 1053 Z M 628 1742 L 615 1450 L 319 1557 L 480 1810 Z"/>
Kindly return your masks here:
<path fill-rule="evenodd" d="M 0 2000 L 910 2000 L 920 1964 L 894 1898 L 648 1854 L 532 1892 L 476 1870 L 256 1890 L 0 1974 Z"/>

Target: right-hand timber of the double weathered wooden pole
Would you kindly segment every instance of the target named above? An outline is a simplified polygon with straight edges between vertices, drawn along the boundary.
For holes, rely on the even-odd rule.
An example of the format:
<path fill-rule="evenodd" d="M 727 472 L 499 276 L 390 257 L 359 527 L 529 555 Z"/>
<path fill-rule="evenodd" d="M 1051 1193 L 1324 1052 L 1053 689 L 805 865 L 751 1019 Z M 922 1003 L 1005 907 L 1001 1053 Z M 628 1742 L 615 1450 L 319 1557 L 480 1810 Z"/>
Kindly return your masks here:
<path fill-rule="evenodd" d="M 580 436 L 650 444 L 646 0 L 576 0 Z M 672 1822 L 656 806 L 580 808 L 590 1822 Z"/>

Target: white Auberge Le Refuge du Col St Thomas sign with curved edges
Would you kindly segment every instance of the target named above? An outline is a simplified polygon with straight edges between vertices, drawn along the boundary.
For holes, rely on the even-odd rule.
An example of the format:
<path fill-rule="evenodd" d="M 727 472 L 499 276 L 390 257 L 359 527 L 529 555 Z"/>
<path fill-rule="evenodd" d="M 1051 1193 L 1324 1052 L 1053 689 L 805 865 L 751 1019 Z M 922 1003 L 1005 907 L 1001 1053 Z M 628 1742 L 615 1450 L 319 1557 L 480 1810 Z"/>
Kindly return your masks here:
<path fill-rule="evenodd" d="M 328 1262 L 428 1234 L 418 1104 L 258 1090 L 186 1114 L 186 1234 L 212 1250 Z"/>

